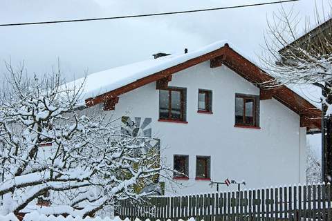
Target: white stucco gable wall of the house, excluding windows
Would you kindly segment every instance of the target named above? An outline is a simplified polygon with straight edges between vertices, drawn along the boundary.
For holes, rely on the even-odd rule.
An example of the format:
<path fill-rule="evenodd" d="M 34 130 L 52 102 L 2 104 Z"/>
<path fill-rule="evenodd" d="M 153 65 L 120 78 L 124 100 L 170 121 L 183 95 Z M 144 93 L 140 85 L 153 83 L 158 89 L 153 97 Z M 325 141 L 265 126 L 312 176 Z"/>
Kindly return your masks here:
<path fill-rule="evenodd" d="M 215 190 L 209 181 L 195 180 L 196 155 L 211 156 L 211 178 L 217 182 L 228 177 L 253 188 L 305 181 L 306 128 L 299 128 L 299 116 L 286 106 L 275 99 L 261 101 L 261 128 L 235 128 L 235 93 L 259 95 L 259 88 L 225 66 L 210 68 L 210 62 L 176 73 L 169 86 L 187 88 L 188 124 L 158 122 L 156 83 L 121 95 L 116 110 L 109 112 L 151 117 L 152 135 L 160 138 L 167 165 L 173 166 L 173 155 L 189 155 L 190 179 L 181 181 L 181 188 L 166 184 L 167 194 Z M 212 90 L 212 115 L 197 113 L 199 88 Z M 237 186 L 221 186 L 230 189 Z"/>

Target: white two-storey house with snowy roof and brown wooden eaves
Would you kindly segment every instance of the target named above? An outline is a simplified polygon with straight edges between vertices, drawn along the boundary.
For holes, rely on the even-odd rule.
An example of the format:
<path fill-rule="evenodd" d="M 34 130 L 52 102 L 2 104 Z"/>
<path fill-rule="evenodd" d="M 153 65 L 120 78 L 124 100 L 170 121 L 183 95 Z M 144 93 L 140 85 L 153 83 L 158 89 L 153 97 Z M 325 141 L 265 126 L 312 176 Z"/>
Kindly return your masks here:
<path fill-rule="evenodd" d="M 185 173 L 173 177 L 180 186 L 160 179 L 165 194 L 212 191 L 226 178 L 247 188 L 305 182 L 319 109 L 286 86 L 264 87 L 273 77 L 226 41 L 156 55 L 88 75 L 82 96 L 88 110 L 122 119 L 124 132 L 160 139 L 162 160 Z"/>

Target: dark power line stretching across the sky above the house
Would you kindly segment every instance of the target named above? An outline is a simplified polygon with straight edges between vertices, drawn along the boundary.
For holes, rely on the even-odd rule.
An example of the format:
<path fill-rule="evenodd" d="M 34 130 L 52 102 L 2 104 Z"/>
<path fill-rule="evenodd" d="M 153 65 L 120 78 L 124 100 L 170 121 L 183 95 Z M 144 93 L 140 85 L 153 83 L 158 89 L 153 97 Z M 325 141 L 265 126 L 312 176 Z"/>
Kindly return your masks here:
<path fill-rule="evenodd" d="M 162 13 L 154 13 L 154 14 L 143 14 L 143 15 L 124 15 L 118 17 L 102 17 L 102 18 L 94 18 L 94 19 L 73 19 L 73 20 L 59 20 L 59 21 L 38 21 L 38 22 L 26 22 L 26 23 L 3 23 L 0 26 L 28 26 L 28 25 L 40 25 L 40 24 L 48 24 L 48 23 L 68 23 L 68 22 L 80 22 L 80 21 L 98 21 L 98 20 L 111 20 L 111 19 L 129 19 L 129 18 L 138 18 L 138 17 L 152 17 L 152 16 L 160 16 L 160 15 L 176 15 L 176 14 L 186 14 L 193 12 L 207 12 L 214 10 L 225 10 L 232 8 L 245 8 L 245 7 L 253 7 L 253 6 L 266 6 L 272 5 L 276 3 L 286 3 L 291 1 L 299 1 L 299 0 L 286 0 L 286 1 L 272 1 L 266 3 L 256 3 L 249 5 L 241 5 L 241 6 L 228 6 L 223 8 L 205 8 L 199 10 L 186 10 L 186 11 L 177 11 L 177 12 L 162 12 Z"/>

